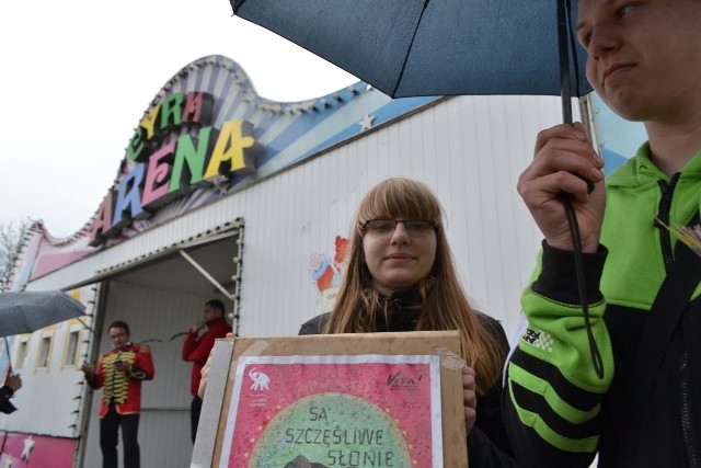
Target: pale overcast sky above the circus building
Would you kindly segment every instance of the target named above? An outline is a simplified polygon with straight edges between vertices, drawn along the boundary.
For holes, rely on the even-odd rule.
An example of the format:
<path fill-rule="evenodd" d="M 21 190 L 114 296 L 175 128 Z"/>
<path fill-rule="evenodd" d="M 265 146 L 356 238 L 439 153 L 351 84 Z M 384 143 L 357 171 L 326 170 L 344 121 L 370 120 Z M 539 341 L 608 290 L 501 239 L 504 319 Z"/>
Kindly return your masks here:
<path fill-rule="evenodd" d="M 357 81 L 232 18 L 228 0 L 0 4 L 0 224 L 80 229 L 115 179 L 143 111 L 207 55 L 243 67 L 258 94 L 301 101 Z"/>

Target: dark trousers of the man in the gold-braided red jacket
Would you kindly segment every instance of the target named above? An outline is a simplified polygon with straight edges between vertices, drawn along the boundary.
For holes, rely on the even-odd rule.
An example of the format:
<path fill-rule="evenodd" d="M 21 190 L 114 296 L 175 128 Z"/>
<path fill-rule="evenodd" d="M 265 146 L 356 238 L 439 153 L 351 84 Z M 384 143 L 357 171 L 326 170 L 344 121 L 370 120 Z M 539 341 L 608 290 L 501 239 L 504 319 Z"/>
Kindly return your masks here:
<path fill-rule="evenodd" d="M 140 453 L 137 434 L 139 432 L 138 414 L 117 414 L 114 404 L 100 420 L 100 448 L 102 449 L 103 468 L 117 468 L 117 436 L 122 427 L 124 445 L 124 468 L 139 468 Z"/>

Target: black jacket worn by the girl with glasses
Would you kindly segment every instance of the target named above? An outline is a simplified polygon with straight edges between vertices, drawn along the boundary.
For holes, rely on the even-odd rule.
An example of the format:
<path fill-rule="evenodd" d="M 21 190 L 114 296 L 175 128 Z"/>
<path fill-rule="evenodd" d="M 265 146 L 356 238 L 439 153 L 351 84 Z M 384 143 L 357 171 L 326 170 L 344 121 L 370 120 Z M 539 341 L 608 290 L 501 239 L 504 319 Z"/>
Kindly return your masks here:
<path fill-rule="evenodd" d="M 378 332 L 401 332 L 415 330 L 421 311 L 410 308 L 415 303 L 412 294 L 394 294 L 388 306 L 389 323 L 379 319 Z M 323 313 L 302 323 L 299 334 L 320 334 L 329 321 L 331 313 Z M 484 328 L 494 335 L 508 353 L 508 340 L 502 324 L 484 313 L 479 315 Z M 468 456 L 470 468 L 516 467 L 512 459 L 513 452 L 502 422 L 502 380 L 497 379 L 492 389 L 483 397 L 478 397 L 476 420 L 468 436 Z"/>

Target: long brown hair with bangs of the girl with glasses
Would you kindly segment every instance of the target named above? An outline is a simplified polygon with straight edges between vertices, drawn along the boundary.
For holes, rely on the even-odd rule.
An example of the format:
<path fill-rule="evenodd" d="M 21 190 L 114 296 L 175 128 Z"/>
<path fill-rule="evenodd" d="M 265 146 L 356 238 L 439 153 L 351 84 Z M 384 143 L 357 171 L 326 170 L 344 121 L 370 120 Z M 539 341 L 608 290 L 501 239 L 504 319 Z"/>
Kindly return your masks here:
<path fill-rule="evenodd" d="M 428 276 L 416 285 L 422 315 L 416 330 L 458 330 L 462 358 L 475 370 L 476 392 L 484 395 L 501 373 L 504 352 L 470 306 L 456 275 L 443 225 L 443 207 L 424 183 L 406 178 L 388 179 L 363 198 L 353 218 L 347 270 L 326 333 L 375 332 L 386 312 L 382 294 L 372 287 L 365 263 L 363 224 L 370 219 L 426 219 L 436 222 L 436 259 Z"/>

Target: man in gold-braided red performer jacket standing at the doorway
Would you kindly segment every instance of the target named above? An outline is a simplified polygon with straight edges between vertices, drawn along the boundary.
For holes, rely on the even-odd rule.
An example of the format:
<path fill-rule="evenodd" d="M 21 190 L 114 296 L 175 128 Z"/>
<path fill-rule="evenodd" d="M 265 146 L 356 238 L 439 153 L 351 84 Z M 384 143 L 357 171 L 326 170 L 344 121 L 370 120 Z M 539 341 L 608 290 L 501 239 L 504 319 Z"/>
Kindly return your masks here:
<path fill-rule="evenodd" d="M 104 388 L 100 404 L 100 448 L 103 468 L 117 468 L 117 436 L 122 426 L 125 468 L 139 468 L 137 440 L 141 411 L 141 381 L 153 378 L 153 361 L 149 346 L 129 341 L 129 326 L 120 320 L 107 329 L 113 350 L 100 356 L 97 369 L 83 363 L 88 385 Z"/>

